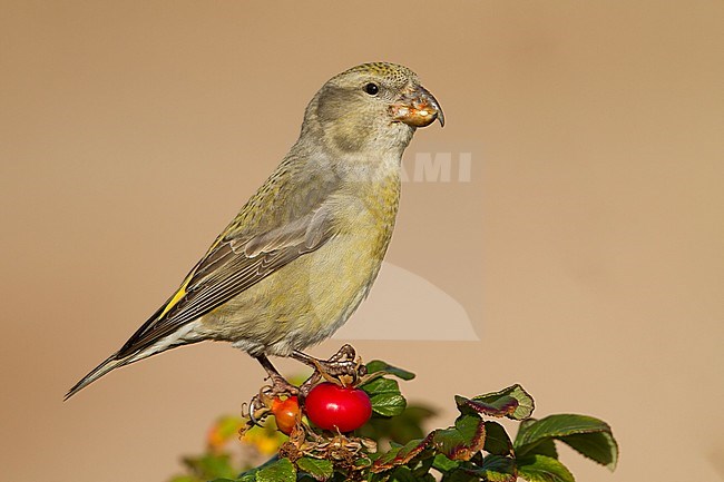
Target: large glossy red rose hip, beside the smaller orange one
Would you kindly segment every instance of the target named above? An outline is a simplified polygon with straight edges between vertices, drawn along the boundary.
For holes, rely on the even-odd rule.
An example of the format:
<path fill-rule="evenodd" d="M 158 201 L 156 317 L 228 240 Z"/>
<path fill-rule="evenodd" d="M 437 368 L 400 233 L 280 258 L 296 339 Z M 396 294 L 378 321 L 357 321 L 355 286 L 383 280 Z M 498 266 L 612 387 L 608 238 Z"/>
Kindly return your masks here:
<path fill-rule="evenodd" d="M 324 382 L 306 395 L 304 410 L 320 429 L 351 432 L 370 420 L 372 403 L 362 390 Z"/>

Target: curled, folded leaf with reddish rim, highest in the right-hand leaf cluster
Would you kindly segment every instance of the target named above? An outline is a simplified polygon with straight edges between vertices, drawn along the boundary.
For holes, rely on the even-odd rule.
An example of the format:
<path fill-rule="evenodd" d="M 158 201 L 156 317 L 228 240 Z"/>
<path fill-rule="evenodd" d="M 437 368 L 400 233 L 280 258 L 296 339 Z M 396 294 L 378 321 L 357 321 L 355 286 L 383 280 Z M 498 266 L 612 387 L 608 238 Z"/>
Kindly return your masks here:
<path fill-rule="evenodd" d="M 482 413 L 490 416 L 507 416 L 524 420 L 535 409 L 532 397 L 520 385 L 512 385 L 500 392 L 486 393 L 472 399 L 456 395 L 456 403 L 461 413 Z"/>

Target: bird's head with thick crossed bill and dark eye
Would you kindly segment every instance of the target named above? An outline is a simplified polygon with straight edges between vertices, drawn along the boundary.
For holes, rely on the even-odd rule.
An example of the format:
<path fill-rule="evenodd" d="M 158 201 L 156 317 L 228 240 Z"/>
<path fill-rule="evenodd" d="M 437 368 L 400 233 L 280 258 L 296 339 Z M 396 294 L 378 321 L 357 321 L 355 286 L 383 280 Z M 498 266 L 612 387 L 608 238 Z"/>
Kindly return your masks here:
<path fill-rule="evenodd" d="M 304 124 L 326 145 L 361 151 L 404 149 L 418 127 L 436 119 L 444 125 L 440 105 L 412 70 L 375 62 L 330 79 L 310 102 Z"/>

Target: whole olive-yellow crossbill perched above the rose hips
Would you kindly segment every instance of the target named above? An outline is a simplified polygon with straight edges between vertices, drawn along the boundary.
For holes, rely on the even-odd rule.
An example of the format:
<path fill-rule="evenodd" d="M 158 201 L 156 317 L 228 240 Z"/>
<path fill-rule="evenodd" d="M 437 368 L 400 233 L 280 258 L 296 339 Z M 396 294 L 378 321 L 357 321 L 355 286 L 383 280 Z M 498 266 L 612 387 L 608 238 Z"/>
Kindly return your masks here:
<path fill-rule="evenodd" d="M 444 126 L 409 68 L 343 71 L 309 102 L 299 139 L 174 294 L 66 394 L 110 371 L 202 341 L 229 342 L 283 377 L 268 356 L 332 336 L 368 296 L 395 224 L 401 161 L 418 128 Z"/>

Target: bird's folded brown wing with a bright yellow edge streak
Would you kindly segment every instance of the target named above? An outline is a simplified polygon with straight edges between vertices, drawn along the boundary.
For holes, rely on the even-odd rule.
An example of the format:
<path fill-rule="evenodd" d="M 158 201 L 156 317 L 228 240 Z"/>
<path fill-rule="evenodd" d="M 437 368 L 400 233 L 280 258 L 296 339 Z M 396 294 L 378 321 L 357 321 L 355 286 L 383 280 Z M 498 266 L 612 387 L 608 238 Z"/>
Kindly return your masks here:
<path fill-rule="evenodd" d="M 282 266 L 319 249 L 333 236 L 326 205 L 263 234 L 231 232 L 212 246 L 178 291 L 116 354 L 128 356 L 228 302 Z"/>

